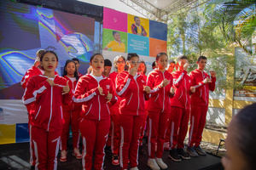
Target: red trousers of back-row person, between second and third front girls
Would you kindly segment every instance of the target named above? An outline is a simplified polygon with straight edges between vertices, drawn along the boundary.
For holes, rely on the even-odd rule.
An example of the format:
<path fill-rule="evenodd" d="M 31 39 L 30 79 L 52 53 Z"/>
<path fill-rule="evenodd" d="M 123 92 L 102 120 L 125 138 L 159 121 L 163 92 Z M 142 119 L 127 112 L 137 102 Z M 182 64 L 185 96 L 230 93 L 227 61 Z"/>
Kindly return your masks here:
<path fill-rule="evenodd" d="M 119 155 L 119 146 L 120 146 L 120 124 L 119 124 L 119 114 L 111 116 L 111 125 L 110 125 L 110 143 L 111 150 L 113 155 Z"/>

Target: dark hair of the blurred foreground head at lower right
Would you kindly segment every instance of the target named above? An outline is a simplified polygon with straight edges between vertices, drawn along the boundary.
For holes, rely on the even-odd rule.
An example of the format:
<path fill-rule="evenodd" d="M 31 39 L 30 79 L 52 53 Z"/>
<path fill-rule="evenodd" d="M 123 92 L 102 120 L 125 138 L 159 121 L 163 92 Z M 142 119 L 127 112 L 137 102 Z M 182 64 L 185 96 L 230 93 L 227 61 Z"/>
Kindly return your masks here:
<path fill-rule="evenodd" d="M 236 146 L 246 157 L 247 170 L 256 167 L 256 103 L 247 105 L 235 116 L 237 128 Z M 233 129 L 231 129 L 233 130 Z M 235 129 L 234 129 L 235 130 Z"/>

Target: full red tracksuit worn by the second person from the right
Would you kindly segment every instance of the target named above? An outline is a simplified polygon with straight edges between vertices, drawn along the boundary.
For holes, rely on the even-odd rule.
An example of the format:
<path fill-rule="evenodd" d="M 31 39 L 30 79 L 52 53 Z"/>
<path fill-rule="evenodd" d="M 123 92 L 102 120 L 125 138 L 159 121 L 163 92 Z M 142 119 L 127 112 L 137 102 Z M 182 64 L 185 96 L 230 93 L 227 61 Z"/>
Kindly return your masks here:
<path fill-rule="evenodd" d="M 171 99 L 170 148 L 183 148 L 188 131 L 191 79 L 187 71 L 172 73 L 175 94 Z"/>

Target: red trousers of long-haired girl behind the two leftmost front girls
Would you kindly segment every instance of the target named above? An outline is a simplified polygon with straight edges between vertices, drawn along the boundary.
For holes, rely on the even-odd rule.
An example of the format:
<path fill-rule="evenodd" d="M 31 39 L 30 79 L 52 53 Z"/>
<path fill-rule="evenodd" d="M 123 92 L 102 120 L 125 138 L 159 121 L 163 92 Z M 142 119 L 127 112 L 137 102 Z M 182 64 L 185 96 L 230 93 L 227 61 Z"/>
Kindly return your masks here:
<path fill-rule="evenodd" d="M 71 124 L 73 136 L 73 149 L 79 148 L 79 114 L 80 110 L 65 111 L 63 110 L 63 117 L 65 123 L 61 133 L 61 150 L 67 150 L 67 140 L 69 137 L 69 126 Z"/>

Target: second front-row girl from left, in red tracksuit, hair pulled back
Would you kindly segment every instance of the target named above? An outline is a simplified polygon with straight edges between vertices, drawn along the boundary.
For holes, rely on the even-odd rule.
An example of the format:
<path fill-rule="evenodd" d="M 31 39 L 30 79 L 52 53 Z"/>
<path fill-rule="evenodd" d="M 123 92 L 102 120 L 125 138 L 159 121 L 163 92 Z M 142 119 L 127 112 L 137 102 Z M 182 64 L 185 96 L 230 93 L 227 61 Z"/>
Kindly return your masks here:
<path fill-rule="evenodd" d="M 94 160 L 93 168 L 101 170 L 110 127 L 108 102 L 114 104 L 116 98 L 113 96 L 113 83 L 102 76 L 102 54 L 92 55 L 90 65 L 92 72 L 79 78 L 73 101 L 82 105 L 79 129 L 83 138 L 83 169 L 90 170 Z"/>

